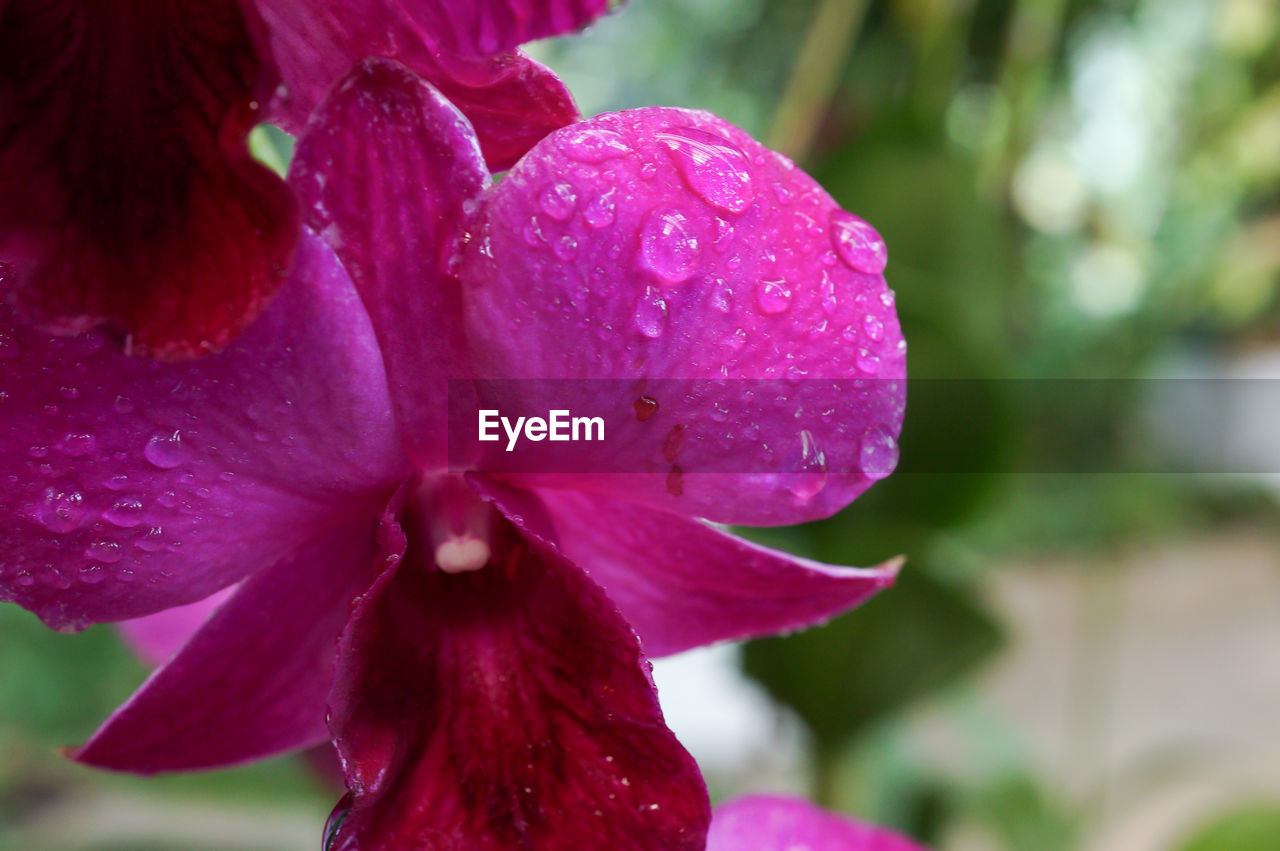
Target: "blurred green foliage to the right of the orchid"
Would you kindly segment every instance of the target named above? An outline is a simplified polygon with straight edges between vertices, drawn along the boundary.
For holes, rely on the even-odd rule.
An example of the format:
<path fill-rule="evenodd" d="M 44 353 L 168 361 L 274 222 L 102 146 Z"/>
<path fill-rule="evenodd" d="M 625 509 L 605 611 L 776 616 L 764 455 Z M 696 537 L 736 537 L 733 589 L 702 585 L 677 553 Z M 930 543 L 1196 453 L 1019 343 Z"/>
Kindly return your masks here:
<path fill-rule="evenodd" d="M 1025 764 L 913 769 L 884 742 L 998 651 L 982 587 L 1001 558 L 1276 517 L 1256 484 L 1096 475 L 1178 466 L 1146 434 L 1134 383 L 1070 380 L 1276 339 L 1280 4 L 648 0 L 626 14 L 548 54 L 586 111 L 701 106 L 781 146 L 884 235 L 910 344 L 899 472 L 828 521 L 748 530 L 837 563 L 905 553 L 899 585 L 750 645 L 745 669 L 808 722 L 827 802 L 929 839 L 966 822 L 993 847 L 1076 847 L 1083 813 Z M 680 36 L 628 50 L 672 22 Z M 611 51 L 628 61 L 599 74 Z"/>

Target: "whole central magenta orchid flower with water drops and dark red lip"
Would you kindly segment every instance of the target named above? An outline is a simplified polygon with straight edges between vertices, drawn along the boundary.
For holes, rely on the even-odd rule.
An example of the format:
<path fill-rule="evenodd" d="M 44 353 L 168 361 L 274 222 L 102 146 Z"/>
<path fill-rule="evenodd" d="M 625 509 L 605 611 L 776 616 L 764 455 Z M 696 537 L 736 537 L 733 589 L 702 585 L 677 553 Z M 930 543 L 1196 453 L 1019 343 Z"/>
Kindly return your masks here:
<path fill-rule="evenodd" d="M 892 582 L 896 563 L 699 520 L 819 517 L 887 475 L 905 354 L 883 243 L 705 113 L 564 128 L 493 186 L 462 114 L 390 60 L 321 105 L 291 182 L 300 260 L 224 352 L 0 337 L 0 596 L 74 628 L 236 586 L 76 758 L 150 773 L 332 740 L 334 848 L 703 847 L 707 792 L 645 654 L 799 628 Z M 660 334 L 636 321 L 655 298 Z M 804 404 L 745 398 L 778 369 L 814 379 Z M 449 378 L 637 376 L 717 380 L 632 413 L 652 430 L 616 472 L 448 462 Z M 746 413 L 684 424 L 673 489 L 667 418 L 714 403 Z M 828 470 L 796 488 L 780 453 L 699 475 L 741 450 L 716 434 L 822 445 Z"/>

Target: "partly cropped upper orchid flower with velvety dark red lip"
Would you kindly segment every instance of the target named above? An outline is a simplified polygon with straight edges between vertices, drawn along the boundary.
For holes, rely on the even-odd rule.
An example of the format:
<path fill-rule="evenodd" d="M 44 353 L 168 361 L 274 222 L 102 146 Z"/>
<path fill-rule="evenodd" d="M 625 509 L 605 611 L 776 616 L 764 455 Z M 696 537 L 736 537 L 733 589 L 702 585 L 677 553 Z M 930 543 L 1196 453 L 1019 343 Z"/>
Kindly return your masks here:
<path fill-rule="evenodd" d="M 608 0 L 0 3 L 0 288 L 54 330 L 116 320 L 161 357 L 221 348 L 298 239 L 285 186 L 250 157 L 298 131 L 365 56 L 396 56 L 470 118 L 495 169 L 577 119 L 515 47 Z"/>

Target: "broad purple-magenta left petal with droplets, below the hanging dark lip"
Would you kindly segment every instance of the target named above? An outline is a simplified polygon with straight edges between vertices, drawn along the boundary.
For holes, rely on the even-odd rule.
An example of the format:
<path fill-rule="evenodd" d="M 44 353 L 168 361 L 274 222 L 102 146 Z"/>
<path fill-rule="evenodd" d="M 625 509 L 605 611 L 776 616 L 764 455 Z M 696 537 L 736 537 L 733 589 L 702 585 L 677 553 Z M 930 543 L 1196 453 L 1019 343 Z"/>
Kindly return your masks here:
<path fill-rule="evenodd" d="M 385 500 L 403 466 L 369 317 L 315 237 L 198 361 L 0 312 L 0 600 L 51 626 L 206 598 Z"/>

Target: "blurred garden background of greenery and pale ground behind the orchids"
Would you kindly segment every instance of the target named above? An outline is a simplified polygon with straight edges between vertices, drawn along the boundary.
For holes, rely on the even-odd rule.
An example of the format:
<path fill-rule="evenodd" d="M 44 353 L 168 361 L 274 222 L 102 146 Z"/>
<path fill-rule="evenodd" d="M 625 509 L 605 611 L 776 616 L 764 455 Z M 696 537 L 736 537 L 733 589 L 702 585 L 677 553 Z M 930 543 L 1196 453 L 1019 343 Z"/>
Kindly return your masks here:
<path fill-rule="evenodd" d="M 723 115 L 890 246 L 900 471 L 746 534 L 908 566 L 658 663 L 713 796 L 942 851 L 1280 848 L 1280 0 L 632 0 L 534 52 L 588 115 Z M 54 755 L 145 673 L 0 607 L 0 848 L 316 847 L 337 793 L 301 759 Z"/>

